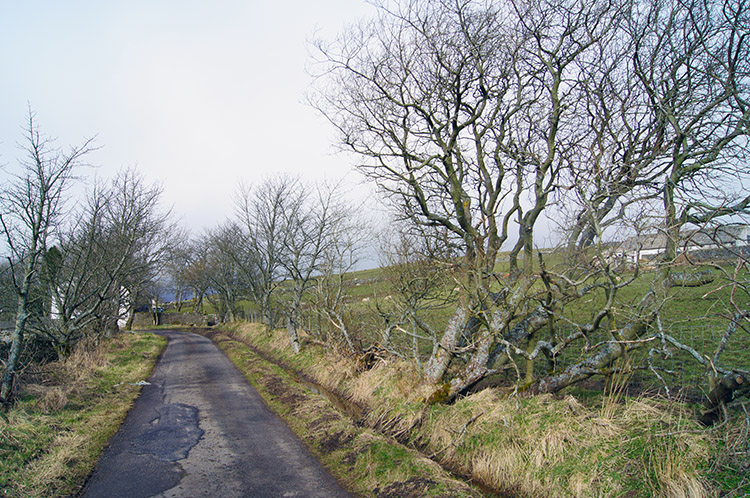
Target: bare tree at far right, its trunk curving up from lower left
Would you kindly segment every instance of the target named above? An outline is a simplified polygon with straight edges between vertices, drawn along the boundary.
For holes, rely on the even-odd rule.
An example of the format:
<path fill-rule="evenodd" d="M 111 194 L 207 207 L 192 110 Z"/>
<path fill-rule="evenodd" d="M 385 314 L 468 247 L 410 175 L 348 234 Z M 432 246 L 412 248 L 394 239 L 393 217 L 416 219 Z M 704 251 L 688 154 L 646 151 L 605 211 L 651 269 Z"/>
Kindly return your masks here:
<path fill-rule="evenodd" d="M 685 229 L 721 223 L 750 205 L 750 11 L 742 2 L 724 1 L 635 5 L 641 8 L 632 11 L 626 34 L 634 49 L 629 71 L 636 77 L 629 91 L 638 98 L 627 112 L 649 123 L 648 133 L 631 145 L 650 166 L 633 185 L 650 189 L 661 203 L 649 211 L 652 230 L 664 235 L 660 272 L 637 318 L 596 355 L 542 381 L 544 390 L 588 378 L 647 343 L 670 288 L 693 278 L 672 271 Z M 587 216 L 594 225 L 601 218 L 595 209 Z M 610 294 L 618 287 L 612 285 Z"/>

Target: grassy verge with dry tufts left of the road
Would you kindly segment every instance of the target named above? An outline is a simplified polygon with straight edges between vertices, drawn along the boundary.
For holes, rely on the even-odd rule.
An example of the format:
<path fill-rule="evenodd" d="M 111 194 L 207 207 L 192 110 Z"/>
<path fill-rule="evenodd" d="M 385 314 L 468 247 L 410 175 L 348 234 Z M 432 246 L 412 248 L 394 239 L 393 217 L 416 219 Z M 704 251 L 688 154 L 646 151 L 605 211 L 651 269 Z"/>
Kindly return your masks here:
<path fill-rule="evenodd" d="M 18 403 L 0 414 L 0 496 L 76 493 L 165 344 L 124 333 L 93 352 L 27 370 Z"/>

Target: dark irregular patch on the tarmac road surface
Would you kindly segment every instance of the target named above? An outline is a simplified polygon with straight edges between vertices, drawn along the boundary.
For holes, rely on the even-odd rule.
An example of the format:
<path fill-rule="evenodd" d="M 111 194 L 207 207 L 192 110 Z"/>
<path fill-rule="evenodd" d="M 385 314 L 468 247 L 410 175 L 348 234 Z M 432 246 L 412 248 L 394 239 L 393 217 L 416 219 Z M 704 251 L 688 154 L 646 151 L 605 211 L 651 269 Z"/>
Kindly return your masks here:
<path fill-rule="evenodd" d="M 158 407 L 157 413 L 158 417 L 151 421 L 151 427 L 132 441 L 132 452 L 152 455 L 162 462 L 186 458 L 203 436 L 203 429 L 198 425 L 198 409 L 183 403 L 172 403 Z"/>

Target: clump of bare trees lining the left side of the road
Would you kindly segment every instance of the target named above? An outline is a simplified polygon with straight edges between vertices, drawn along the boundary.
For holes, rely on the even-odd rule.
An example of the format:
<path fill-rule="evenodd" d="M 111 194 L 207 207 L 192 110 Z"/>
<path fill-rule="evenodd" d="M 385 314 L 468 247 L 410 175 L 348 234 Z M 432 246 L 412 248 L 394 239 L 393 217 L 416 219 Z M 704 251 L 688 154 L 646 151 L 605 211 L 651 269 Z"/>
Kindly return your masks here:
<path fill-rule="evenodd" d="M 20 170 L 0 190 L 2 270 L 10 284 L 4 291 L 15 298 L 14 309 L 3 309 L 15 329 L 1 362 L 2 402 L 12 400 L 26 345 L 47 351 L 41 359 L 54 358 L 117 327 L 128 302 L 161 270 L 171 230 L 169 212 L 159 207 L 161 187 L 132 169 L 68 204 L 92 140 L 57 148 L 29 111 L 21 147 Z"/>

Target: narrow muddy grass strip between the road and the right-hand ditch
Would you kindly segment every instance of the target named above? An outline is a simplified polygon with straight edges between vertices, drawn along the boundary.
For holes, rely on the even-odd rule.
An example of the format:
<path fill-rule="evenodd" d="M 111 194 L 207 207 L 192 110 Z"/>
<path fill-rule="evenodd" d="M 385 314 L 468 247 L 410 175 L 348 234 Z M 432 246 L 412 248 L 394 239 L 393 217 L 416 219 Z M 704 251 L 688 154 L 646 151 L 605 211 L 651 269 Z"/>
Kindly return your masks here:
<path fill-rule="evenodd" d="M 357 496 L 481 496 L 419 452 L 343 416 L 289 372 L 230 337 L 232 331 L 214 331 L 208 335 L 260 392 L 268 406 Z"/>

